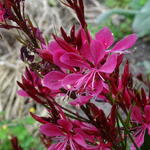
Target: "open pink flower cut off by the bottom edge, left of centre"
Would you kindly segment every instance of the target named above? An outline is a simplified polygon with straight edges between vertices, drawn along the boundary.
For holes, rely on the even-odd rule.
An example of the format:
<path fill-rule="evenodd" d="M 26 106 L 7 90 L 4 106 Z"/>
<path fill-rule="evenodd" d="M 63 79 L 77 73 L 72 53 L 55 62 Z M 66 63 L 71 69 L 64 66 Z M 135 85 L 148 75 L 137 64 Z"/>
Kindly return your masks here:
<path fill-rule="evenodd" d="M 60 119 L 58 125 L 52 123 L 41 125 L 40 130 L 44 135 L 51 137 L 54 142 L 48 150 L 66 150 L 67 147 L 70 150 L 86 150 L 87 144 L 84 136 L 75 133 L 73 124 L 68 120 Z"/>

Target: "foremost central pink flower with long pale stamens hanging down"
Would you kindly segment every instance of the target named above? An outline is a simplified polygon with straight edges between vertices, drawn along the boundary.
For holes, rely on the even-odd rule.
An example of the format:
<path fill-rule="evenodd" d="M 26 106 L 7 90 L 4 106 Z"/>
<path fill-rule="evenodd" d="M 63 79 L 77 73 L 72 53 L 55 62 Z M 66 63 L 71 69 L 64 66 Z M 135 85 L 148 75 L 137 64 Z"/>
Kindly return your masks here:
<path fill-rule="evenodd" d="M 117 64 L 117 55 L 107 56 L 103 46 L 93 40 L 87 57 L 92 65 L 89 65 L 81 56 L 73 53 L 65 53 L 60 60 L 68 62 L 70 66 L 80 68 L 79 73 L 68 74 L 63 79 L 63 86 L 67 90 L 84 90 L 87 94 L 97 96 L 105 86 L 103 73 L 110 74 Z M 105 57 L 107 57 L 105 59 Z M 104 62 L 104 63 L 103 63 Z"/>

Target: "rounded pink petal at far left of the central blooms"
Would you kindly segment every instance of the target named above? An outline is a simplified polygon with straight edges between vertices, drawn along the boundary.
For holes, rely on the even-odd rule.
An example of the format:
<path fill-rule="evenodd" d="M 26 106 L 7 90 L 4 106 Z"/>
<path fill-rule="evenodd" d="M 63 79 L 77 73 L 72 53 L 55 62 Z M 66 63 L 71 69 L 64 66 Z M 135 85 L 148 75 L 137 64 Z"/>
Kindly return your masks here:
<path fill-rule="evenodd" d="M 62 87 L 62 80 L 66 74 L 58 71 L 51 71 L 44 76 L 43 83 L 44 86 L 52 89 L 58 90 Z"/>

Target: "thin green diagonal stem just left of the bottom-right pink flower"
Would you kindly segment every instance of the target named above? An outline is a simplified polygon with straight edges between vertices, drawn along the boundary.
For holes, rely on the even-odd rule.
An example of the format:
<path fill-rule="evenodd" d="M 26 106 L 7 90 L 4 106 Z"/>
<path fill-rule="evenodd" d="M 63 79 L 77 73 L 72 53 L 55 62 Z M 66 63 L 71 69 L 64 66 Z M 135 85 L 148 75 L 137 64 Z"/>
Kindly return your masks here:
<path fill-rule="evenodd" d="M 117 116 L 118 116 L 119 120 L 121 121 L 121 123 L 122 123 L 123 127 L 125 128 L 125 131 L 126 131 L 126 133 L 128 134 L 128 136 L 129 136 L 130 140 L 132 141 L 132 143 L 133 143 L 133 144 L 134 144 L 134 146 L 136 147 L 136 149 L 137 149 L 137 150 L 140 150 L 140 149 L 138 148 L 138 146 L 136 145 L 136 143 L 135 143 L 135 141 L 134 141 L 133 137 L 131 136 L 131 134 L 130 134 L 130 132 L 129 132 L 128 128 L 126 127 L 126 124 L 124 123 L 124 121 L 123 121 L 123 119 L 122 119 L 121 115 L 120 115 L 119 113 L 117 113 Z"/>

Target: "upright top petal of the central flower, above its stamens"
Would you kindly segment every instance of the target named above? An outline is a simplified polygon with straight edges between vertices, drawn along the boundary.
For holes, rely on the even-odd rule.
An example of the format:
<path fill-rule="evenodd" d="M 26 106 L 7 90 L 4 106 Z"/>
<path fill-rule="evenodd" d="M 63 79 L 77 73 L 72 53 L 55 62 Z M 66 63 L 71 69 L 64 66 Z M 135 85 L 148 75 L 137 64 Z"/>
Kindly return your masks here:
<path fill-rule="evenodd" d="M 105 51 L 103 45 L 97 41 L 92 40 L 91 42 L 91 55 L 93 57 L 95 65 L 105 56 Z"/>

